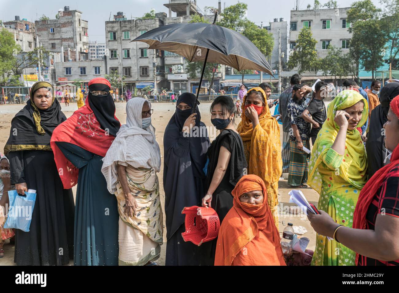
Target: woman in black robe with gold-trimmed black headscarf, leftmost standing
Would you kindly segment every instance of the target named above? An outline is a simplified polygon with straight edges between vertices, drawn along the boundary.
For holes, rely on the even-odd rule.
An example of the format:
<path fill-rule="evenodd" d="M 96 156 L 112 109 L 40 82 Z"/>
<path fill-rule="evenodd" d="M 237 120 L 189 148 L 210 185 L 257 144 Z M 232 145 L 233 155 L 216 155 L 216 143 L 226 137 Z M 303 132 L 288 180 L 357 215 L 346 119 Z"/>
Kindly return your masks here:
<path fill-rule="evenodd" d="M 38 82 L 26 106 L 11 121 L 4 147 L 10 159 L 11 184 L 21 195 L 36 190 L 30 231 L 16 229 L 17 265 L 64 265 L 73 257 L 73 195 L 71 189 L 62 187 L 50 147 L 54 128 L 65 120 L 53 87 Z"/>

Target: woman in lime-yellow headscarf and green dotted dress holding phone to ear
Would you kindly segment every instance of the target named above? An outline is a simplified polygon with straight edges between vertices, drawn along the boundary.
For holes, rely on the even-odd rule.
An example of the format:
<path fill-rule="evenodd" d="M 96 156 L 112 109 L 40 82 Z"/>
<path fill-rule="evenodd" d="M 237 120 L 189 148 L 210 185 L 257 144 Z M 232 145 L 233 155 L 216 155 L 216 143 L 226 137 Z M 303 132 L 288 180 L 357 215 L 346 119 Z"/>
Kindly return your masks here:
<path fill-rule="evenodd" d="M 318 209 L 348 227 L 367 178 L 367 157 L 356 129 L 367 117 L 367 100 L 359 92 L 340 92 L 328 105 L 310 157 L 308 184 L 320 194 Z M 354 265 L 355 256 L 346 246 L 317 234 L 312 265 Z"/>

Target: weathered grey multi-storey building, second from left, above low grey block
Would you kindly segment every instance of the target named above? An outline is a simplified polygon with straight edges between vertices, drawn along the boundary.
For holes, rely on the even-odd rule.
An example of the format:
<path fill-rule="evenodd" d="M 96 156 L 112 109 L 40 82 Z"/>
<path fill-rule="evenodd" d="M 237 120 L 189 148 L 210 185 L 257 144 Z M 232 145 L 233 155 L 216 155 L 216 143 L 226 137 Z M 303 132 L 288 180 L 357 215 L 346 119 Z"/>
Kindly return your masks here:
<path fill-rule="evenodd" d="M 36 20 L 39 42 L 50 52 L 60 52 L 64 61 L 88 60 L 88 24 L 82 19 L 82 13 L 65 6 L 58 12 L 57 19 Z"/>

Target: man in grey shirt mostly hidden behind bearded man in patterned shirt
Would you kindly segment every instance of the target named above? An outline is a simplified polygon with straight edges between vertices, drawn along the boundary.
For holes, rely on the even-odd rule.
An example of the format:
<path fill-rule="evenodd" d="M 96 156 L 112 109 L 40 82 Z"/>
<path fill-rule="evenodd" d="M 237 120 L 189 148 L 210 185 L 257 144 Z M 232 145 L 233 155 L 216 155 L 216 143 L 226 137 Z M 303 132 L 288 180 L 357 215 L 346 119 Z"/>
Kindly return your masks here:
<path fill-rule="evenodd" d="M 298 73 L 292 75 L 290 79 L 291 85 L 280 94 L 279 98 L 279 113 L 281 114 L 283 132 L 281 149 L 282 173 L 288 173 L 288 168 L 290 166 L 290 137 L 288 132 L 290 131 L 291 124 L 290 119 L 287 116 L 287 106 L 288 102 L 292 98 L 292 87 L 294 87 L 294 85 L 300 84 L 300 79 L 301 76 Z"/>

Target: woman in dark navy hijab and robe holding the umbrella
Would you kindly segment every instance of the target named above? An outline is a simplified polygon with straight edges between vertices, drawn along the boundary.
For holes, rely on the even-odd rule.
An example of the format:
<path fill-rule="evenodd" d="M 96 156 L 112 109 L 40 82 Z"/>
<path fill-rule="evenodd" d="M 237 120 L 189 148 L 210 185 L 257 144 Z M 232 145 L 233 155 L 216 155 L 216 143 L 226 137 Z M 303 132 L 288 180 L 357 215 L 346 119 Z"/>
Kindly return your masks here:
<path fill-rule="evenodd" d="M 203 169 L 210 145 L 195 100 L 196 96 L 188 92 L 179 96 L 164 134 L 166 265 L 199 265 L 198 246 L 182 238 L 186 231 L 183 208 L 199 206 L 205 194 Z"/>

